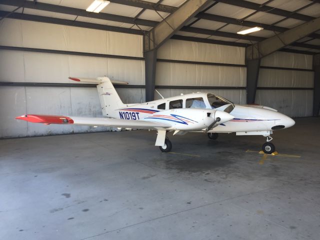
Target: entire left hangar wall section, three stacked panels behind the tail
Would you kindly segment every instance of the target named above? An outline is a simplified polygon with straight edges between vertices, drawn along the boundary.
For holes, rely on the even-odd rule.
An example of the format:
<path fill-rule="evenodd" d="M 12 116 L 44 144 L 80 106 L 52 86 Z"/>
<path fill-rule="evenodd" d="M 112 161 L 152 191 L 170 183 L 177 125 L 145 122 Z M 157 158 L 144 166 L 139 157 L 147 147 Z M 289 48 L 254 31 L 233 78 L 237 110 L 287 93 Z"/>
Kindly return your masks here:
<path fill-rule="evenodd" d="M 4 34 L 5 33 L 5 34 Z M 4 19 L 0 45 L 141 57 L 142 36 L 81 27 Z M 0 81 L 75 83 L 68 76 L 144 84 L 144 61 L 68 54 L 0 50 Z M 144 89 L 119 88 L 125 102 L 144 101 Z M 5 104 L 4 104 L 5 102 Z M 108 127 L 43 125 L 15 120 L 24 113 L 100 116 L 94 87 L 0 87 L 0 137 L 109 130 Z"/>

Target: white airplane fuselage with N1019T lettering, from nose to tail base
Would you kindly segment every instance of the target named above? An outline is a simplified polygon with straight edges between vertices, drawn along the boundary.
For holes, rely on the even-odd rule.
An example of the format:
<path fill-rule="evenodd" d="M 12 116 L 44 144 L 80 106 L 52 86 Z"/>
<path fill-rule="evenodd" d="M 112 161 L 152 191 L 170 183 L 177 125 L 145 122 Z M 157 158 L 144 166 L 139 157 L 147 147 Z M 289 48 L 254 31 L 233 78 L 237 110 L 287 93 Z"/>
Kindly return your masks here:
<path fill-rule="evenodd" d="M 224 104 L 213 108 L 204 92 L 183 94 L 174 97 L 163 98 L 145 103 L 128 104 L 127 107 L 117 109 L 112 117 L 127 120 L 154 120 L 172 123 L 173 120 L 180 124 L 192 124 L 195 116 L 184 115 L 188 120 L 183 121 L 180 117 L 176 118 L 174 109 L 177 108 L 204 108 L 223 111 L 228 105 Z M 187 107 L 189 99 L 203 99 L 198 106 Z M 177 103 L 174 107 L 171 103 Z M 260 105 L 238 105 L 233 104 L 234 108 L 229 112 L 234 116 L 233 119 L 221 123 L 208 132 L 237 132 L 237 134 L 270 134 L 273 130 L 290 127 L 294 120 L 290 117 L 272 109 Z M 173 108 L 174 107 L 174 108 Z M 169 110 L 169 111 L 167 111 Z M 172 114 L 162 115 L 161 111 L 172 112 Z M 150 115 L 155 115 L 150 119 Z"/>

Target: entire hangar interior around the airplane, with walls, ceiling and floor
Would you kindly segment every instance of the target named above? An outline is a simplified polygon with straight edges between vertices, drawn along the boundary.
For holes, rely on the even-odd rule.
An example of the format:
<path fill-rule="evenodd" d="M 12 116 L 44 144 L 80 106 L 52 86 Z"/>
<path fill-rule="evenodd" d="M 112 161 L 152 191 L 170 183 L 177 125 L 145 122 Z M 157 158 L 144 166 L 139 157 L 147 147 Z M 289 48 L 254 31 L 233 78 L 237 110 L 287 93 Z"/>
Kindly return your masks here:
<path fill-rule="evenodd" d="M 0 238 L 317 239 L 320 1 L 91 2 L 0 0 Z M 270 52 L 253 57 L 257 44 Z M 152 132 L 14 119 L 100 116 L 95 84 L 69 76 L 127 81 L 125 103 L 213 92 L 296 126 L 275 133 L 283 156 L 246 152 L 261 136 L 195 133 L 164 154 Z"/>

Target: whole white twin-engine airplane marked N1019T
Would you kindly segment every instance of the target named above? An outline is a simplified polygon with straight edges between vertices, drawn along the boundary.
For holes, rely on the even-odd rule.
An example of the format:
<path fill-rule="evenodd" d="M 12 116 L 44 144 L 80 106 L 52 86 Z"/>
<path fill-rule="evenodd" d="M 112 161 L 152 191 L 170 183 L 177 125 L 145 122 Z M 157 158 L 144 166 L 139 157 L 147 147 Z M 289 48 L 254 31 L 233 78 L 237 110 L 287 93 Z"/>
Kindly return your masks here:
<path fill-rule="evenodd" d="M 237 105 L 213 93 L 196 92 L 181 94 L 137 104 L 124 104 L 112 83 L 128 84 L 110 80 L 108 77 L 79 78 L 75 81 L 95 82 L 100 97 L 103 116 L 110 118 L 35 115 L 26 114 L 16 117 L 30 122 L 44 124 L 78 124 L 92 126 L 114 126 L 157 130 L 155 145 L 168 152 L 172 144 L 166 137 L 168 131 L 173 135 L 183 135 L 189 131 L 207 133 L 216 139 L 218 132 L 236 132 L 236 135 L 263 135 L 266 142 L 262 145 L 265 153 L 275 151 L 270 142 L 273 130 L 294 125 L 294 120 L 261 105 Z"/>

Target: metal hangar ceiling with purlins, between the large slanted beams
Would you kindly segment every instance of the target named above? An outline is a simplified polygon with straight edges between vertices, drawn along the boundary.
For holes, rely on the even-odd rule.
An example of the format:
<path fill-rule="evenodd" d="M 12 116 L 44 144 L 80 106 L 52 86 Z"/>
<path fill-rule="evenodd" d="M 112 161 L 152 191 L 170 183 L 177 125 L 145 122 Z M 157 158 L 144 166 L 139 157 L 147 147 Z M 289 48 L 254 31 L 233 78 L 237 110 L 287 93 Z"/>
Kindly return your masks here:
<path fill-rule="evenodd" d="M 17 18 L 132 34 L 145 34 L 185 0 L 110 0 L 101 12 L 87 12 L 92 0 L 0 0 L 0 19 Z M 171 38 L 248 46 L 320 16 L 320 0 L 215 0 Z M 247 35 L 252 26 L 264 29 Z M 320 31 L 285 51 L 320 52 Z"/>

